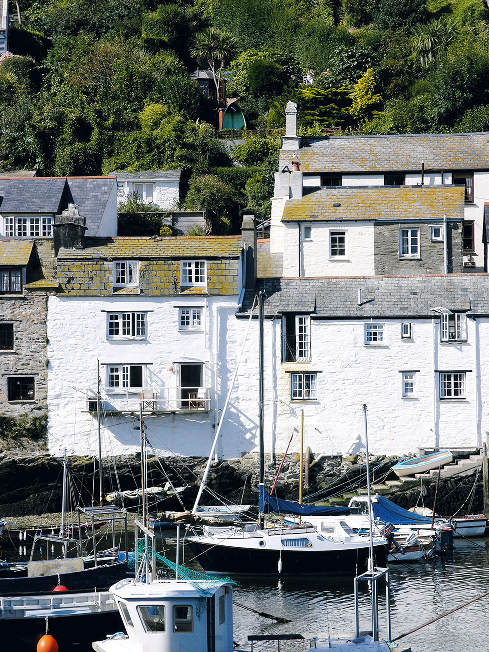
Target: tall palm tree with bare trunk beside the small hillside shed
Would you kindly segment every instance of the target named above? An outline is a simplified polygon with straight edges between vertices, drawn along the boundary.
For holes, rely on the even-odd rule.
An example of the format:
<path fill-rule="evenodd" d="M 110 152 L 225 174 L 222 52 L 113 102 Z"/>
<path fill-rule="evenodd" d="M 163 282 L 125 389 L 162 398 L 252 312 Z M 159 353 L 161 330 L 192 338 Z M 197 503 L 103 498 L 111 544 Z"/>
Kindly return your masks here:
<path fill-rule="evenodd" d="M 224 66 L 231 61 L 231 57 L 237 46 L 237 40 L 233 35 L 217 27 L 208 27 L 199 32 L 194 38 L 190 55 L 201 61 L 207 61 L 213 74 L 216 85 L 217 103 L 220 104 L 220 80 Z"/>

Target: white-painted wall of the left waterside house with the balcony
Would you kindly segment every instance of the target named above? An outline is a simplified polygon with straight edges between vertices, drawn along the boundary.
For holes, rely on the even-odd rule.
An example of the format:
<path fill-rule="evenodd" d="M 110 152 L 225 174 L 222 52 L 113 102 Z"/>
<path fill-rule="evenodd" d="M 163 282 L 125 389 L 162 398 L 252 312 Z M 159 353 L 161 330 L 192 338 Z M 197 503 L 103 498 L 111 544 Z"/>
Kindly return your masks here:
<path fill-rule="evenodd" d="M 147 363 L 147 387 L 159 394 L 176 396 L 173 363 L 207 363 L 206 381 L 211 387 L 216 411 L 166 413 L 145 416 L 147 436 L 160 454 L 207 456 L 215 434 L 228 382 L 234 370 L 239 323 L 234 314 L 237 297 L 207 298 L 204 330 L 178 330 L 178 306 L 205 306 L 205 297 L 117 297 L 86 299 L 50 297 L 48 305 L 48 445 L 51 454 L 60 455 L 65 447 L 78 455 L 97 454 L 97 424 L 87 413 L 85 390 L 96 391 L 97 360 L 100 361 L 102 401 L 115 398 L 107 394 L 106 365 Z M 147 312 L 147 340 L 106 339 L 108 312 Z M 218 351 L 218 359 L 216 355 Z M 117 394 L 120 396 L 120 394 Z M 133 400 L 139 394 L 133 394 Z M 108 414 L 102 419 L 104 456 L 137 452 L 140 447 L 138 415 Z M 221 438 L 219 454 L 226 458 L 246 450 L 246 437 L 239 426 L 230 426 L 234 437 Z M 241 441 L 244 439 L 244 441 Z"/>

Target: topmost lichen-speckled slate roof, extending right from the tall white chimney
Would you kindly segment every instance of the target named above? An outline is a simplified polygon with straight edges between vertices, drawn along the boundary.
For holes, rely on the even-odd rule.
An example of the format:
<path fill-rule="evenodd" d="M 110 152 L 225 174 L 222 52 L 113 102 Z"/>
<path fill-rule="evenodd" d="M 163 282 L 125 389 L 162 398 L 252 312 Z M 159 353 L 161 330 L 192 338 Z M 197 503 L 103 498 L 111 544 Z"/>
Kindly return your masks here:
<path fill-rule="evenodd" d="M 279 170 L 293 158 L 303 172 L 378 172 L 489 169 L 489 133 L 401 134 L 303 138 L 297 151 L 280 151 Z"/>

